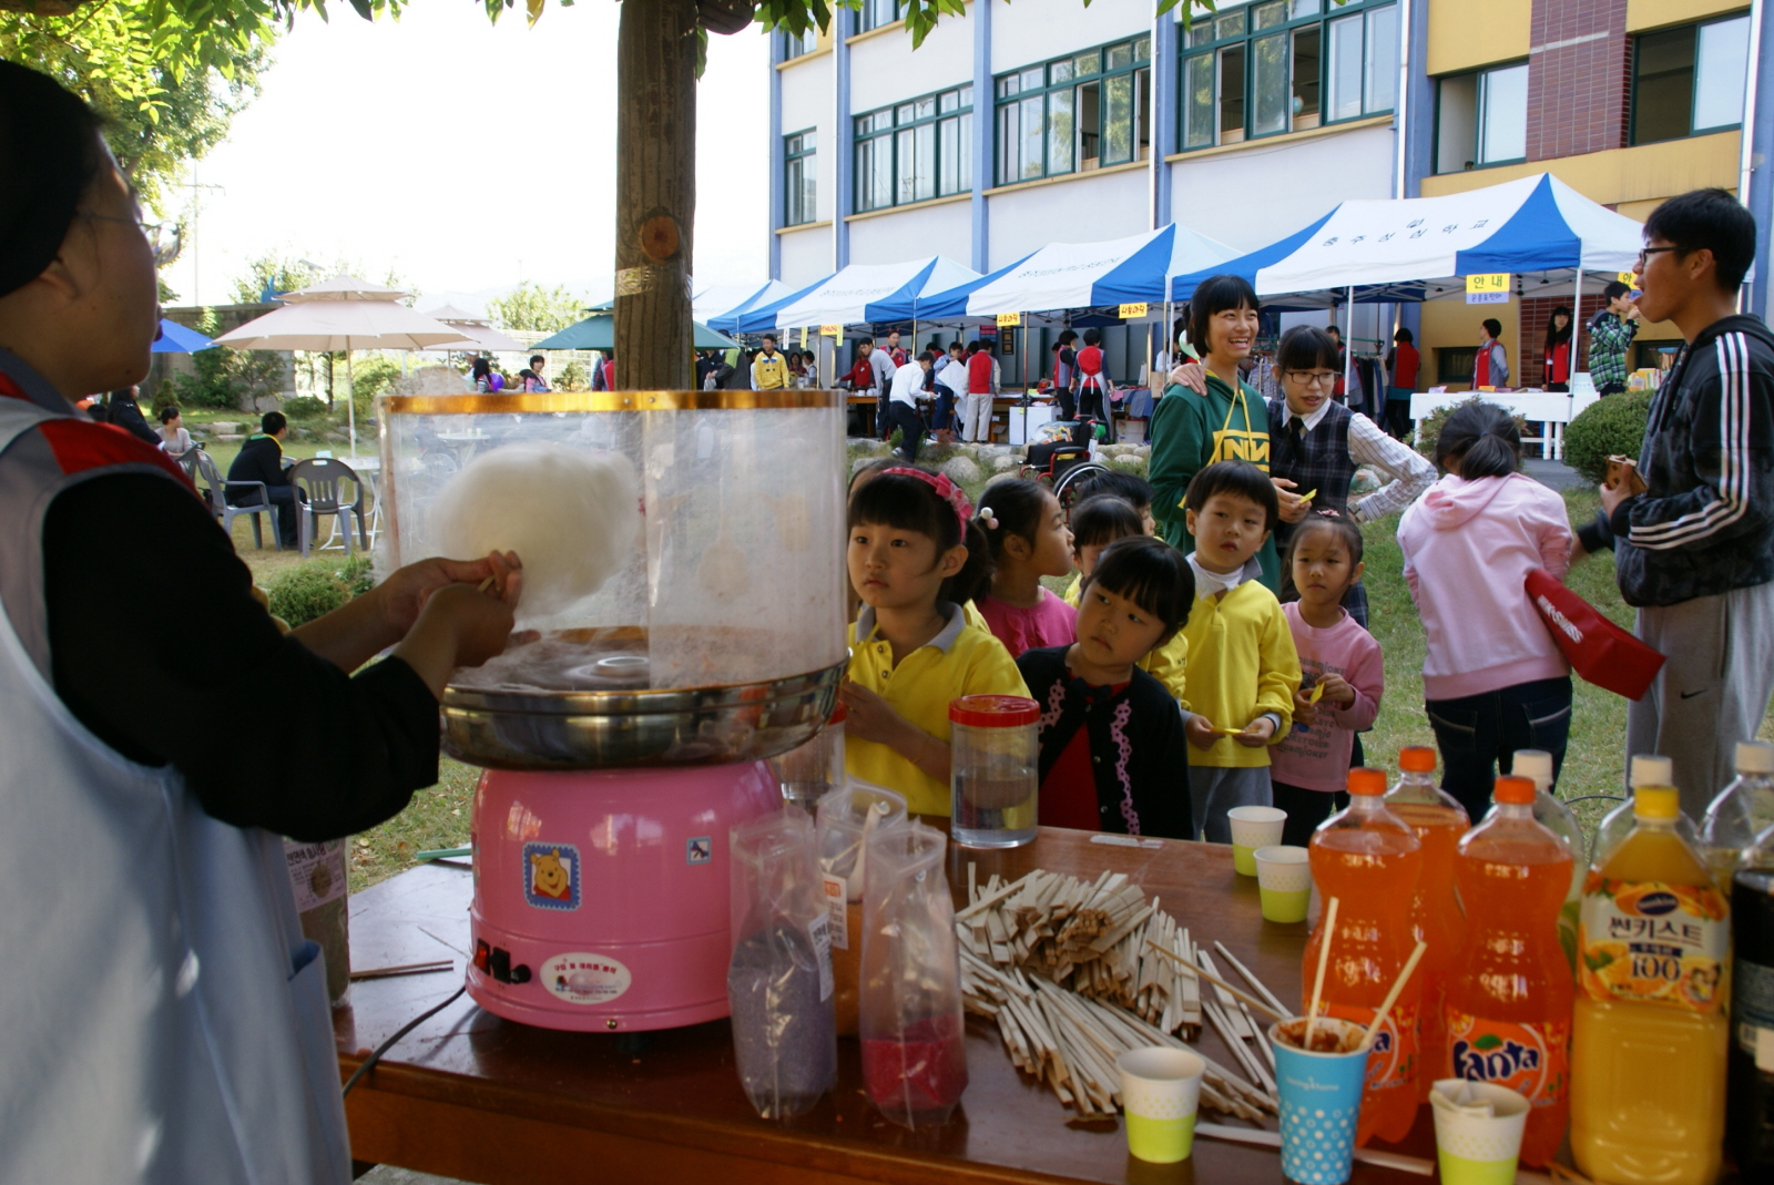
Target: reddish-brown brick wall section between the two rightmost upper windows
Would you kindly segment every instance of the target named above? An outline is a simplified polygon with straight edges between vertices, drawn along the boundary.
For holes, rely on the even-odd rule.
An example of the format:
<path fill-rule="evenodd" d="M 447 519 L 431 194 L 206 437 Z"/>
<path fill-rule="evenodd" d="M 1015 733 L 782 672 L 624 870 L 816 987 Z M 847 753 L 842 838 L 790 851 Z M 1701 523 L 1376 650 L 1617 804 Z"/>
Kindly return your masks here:
<path fill-rule="evenodd" d="M 1535 0 L 1529 28 L 1527 160 L 1623 147 L 1632 69 L 1627 0 Z"/>

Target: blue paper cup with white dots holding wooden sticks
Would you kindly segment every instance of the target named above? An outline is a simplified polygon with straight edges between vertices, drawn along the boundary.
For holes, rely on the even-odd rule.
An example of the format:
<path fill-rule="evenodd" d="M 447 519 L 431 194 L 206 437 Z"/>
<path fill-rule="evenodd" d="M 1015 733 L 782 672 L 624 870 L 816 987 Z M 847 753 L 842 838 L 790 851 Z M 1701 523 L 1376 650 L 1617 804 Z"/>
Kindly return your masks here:
<path fill-rule="evenodd" d="M 1281 1171 L 1302 1185 L 1341 1185 L 1355 1158 L 1355 1121 L 1368 1082 L 1368 1052 L 1309 1054 L 1279 1040 L 1279 1031 L 1300 1032 L 1306 1018 L 1268 1029 L 1276 1050 L 1276 1087 L 1281 1100 Z M 1348 1020 L 1320 1016 L 1316 1029 L 1332 1029 L 1343 1047 L 1361 1041 L 1364 1029 Z"/>

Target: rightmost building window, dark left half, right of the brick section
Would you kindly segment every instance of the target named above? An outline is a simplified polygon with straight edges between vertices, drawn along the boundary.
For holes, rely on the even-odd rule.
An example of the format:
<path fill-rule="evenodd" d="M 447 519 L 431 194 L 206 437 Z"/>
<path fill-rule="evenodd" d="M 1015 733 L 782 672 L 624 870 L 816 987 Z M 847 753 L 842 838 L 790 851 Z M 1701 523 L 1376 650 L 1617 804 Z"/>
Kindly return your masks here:
<path fill-rule="evenodd" d="M 1747 67 L 1747 16 L 1644 34 L 1632 48 L 1632 142 L 1737 128 Z"/>

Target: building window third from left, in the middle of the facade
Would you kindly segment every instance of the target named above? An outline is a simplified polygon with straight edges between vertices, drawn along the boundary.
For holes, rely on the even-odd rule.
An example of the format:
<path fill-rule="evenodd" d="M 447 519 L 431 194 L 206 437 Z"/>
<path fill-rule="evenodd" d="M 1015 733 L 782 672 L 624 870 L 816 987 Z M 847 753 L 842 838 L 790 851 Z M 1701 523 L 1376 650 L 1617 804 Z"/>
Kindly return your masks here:
<path fill-rule="evenodd" d="M 997 78 L 997 183 L 1146 160 L 1151 37 Z"/>

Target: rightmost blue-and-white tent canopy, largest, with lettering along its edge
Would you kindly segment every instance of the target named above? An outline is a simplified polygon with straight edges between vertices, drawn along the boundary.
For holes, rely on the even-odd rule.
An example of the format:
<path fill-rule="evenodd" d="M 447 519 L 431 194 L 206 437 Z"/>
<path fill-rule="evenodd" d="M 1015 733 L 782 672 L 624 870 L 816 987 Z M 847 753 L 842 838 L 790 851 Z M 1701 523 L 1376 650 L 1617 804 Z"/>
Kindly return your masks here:
<path fill-rule="evenodd" d="M 1483 273 L 1629 271 L 1644 227 L 1550 174 L 1396 200 L 1343 202 L 1256 270 L 1260 296 L 1396 287 Z M 1409 296 L 1391 294 L 1389 300 Z M 1419 296 L 1421 298 L 1421 296 Z"/>

